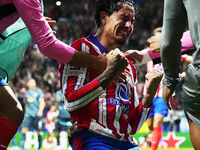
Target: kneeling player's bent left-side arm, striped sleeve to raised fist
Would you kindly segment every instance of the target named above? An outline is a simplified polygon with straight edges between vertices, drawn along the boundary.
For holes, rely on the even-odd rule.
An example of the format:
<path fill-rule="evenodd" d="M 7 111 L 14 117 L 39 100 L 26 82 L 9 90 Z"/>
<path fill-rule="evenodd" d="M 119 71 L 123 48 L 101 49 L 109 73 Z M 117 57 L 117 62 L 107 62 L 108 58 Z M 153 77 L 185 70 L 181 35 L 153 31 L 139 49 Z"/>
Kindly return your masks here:
<path fill-rule="evenodd" d="M 79 110 L 99 97 L 104 93 L 104 90 L 112 83 L 116 76 L 124 71 L 128 65 L 126 58 L 121 55 L 118 50 L 111 51 L 107 55 L 107 58 L 108 65 L 106 70 L 86 85 L 83 85 L 83 82 L 80 83 L 85 79 L 84 74 L 81 74 L 80 70 L 78 76 L 70 76 L 67 73 L 69 71 L 66 71 L 66 74 L 63 75 L 63 79 L 68 78 L 63 84 L 63 88 L 67 86 L 65 89 L 65 97 L 67 100 L 67 110 L 69 112 Z M 85 72 L 85 70 L 83 70 L 83 72 Z M 80 88 L 77 89 L 77 87 Z"/>

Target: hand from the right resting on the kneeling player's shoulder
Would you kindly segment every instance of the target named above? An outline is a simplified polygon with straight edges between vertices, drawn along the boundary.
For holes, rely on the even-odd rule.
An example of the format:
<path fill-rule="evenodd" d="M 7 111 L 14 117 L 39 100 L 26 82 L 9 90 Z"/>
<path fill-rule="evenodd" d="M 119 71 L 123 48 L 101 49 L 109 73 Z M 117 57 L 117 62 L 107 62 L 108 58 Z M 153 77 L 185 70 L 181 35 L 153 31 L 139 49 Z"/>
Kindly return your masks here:
<path fill-rule="evenodd" d="M 138 50 L 128 50 L 124 53 L 124 55 L 127 58 L 131 59 L 134 65 L 141 64 L 143 59 L 143 54 Z"/>

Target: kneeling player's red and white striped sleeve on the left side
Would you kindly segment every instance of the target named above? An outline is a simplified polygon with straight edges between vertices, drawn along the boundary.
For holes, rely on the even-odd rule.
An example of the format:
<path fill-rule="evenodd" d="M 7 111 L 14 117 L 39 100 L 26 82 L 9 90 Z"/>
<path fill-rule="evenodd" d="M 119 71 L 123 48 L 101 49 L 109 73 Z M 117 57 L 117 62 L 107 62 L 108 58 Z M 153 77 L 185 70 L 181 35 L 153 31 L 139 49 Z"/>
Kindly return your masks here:
<path fill-rule="evenodd" d="M 87 44 L 77 40 L 72 43 L 82 52 L 88 52 Z M 65 107 L 69 112 L 79 109 L 90 109 L 88 106 L 91 102 L 97 99 L 104 89 L 100 86 L 97 78 L 91 79 L 90 68 L 75 67 L 70 64 L 61 65 L 61 85 L 62 92 L 65 95 Z M 92 80 L 92 81 L 91 81 Z M 89 82 L 90 81 L 90 82 Z"/>

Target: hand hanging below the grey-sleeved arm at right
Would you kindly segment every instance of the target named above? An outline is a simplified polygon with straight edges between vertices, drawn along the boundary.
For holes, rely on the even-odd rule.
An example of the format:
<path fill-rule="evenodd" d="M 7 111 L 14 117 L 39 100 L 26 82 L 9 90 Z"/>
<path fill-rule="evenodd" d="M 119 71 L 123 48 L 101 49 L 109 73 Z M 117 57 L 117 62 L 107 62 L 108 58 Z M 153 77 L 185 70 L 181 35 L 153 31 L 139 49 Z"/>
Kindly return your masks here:
<path fill-rule="evenodd" d="M 163 87 L 163 99 L 165 101 L 165 104 L 167 105 L 167 107 L 171 110 L 172 106 L 170 103 L 170 99 L 173 100 L 173 96 L 172 94 L 174 93 L 175 88 L 168 88 L 164 85 Z"/>

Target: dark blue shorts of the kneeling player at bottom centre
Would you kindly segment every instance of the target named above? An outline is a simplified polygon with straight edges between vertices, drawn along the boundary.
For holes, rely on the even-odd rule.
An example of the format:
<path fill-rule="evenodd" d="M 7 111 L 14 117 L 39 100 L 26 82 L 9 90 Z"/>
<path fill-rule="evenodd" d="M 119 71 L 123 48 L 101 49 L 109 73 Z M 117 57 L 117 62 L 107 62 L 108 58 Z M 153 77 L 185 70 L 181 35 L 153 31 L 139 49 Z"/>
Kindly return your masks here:
<path fill-rule="evenodd" d="M 75 150 L 140 150 L 138 145 L 127 141 L 119 141 L 88 130 L 72 135 L 72 148 Z"/>

